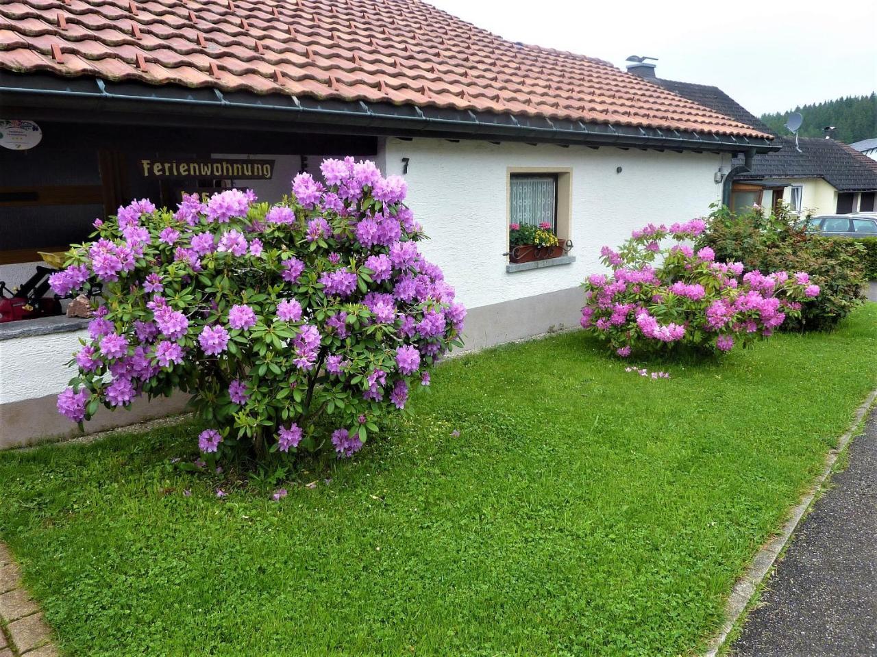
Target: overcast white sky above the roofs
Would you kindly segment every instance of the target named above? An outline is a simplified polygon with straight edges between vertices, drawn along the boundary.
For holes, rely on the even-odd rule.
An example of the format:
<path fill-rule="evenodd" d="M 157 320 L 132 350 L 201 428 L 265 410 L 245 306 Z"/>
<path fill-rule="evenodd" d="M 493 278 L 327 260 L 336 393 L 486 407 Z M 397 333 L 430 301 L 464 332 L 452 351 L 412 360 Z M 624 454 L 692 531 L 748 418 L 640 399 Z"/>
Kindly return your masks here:
<path fill-rule="evenodd" d="M 877 89 L 875 0 L 427 0 L 512 41 L 712 84 L 753 114 Z"/>

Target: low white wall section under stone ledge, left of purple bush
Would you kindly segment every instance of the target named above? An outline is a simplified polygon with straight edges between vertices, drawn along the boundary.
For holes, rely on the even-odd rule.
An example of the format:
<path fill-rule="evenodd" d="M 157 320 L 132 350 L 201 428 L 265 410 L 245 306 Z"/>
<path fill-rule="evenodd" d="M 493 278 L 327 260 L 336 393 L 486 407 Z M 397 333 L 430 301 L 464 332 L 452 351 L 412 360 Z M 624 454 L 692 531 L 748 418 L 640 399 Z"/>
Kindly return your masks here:
<path fill-rule="evenodd" d="M 65 364 L 88 337 L 82 330 L 0 340 L 0 406 L 64 390 L 75 373 Z"/>

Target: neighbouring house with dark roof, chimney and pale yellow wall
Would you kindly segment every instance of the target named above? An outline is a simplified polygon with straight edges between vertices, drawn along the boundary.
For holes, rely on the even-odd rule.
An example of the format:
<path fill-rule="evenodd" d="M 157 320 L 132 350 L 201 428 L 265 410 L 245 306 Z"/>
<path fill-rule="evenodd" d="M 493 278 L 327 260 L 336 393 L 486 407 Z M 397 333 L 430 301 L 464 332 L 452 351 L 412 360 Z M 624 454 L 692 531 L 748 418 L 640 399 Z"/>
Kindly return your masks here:
<path fill-rule="evenodd" d="M 737 101 L 717 87 L 691 82 L 662 80 L 656 66 L 636 62 L 628 72 L 659 84 L 674 94 L 715 109 L 740 123 L 774 134 Z M 733 210 L 752 207 L 776 208 L 787 203 L 797 214 L 828 215 L 870 212 L 875 209 L 877 163 L 859 151 L 870 149 L 877 157 L 877 139 L 845 145 L 834 139 L 794 137 L 774 140 L 780 151 L 754 155 L 747 163 L 738 156 L 725 178 L 723 201 Z M 800 151 L 798 150 L 800 148 Z M 748 170 L 746 170 L 748 168 Z"/>

